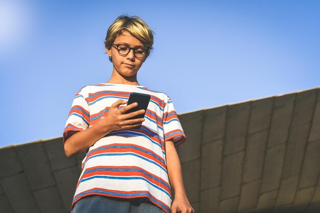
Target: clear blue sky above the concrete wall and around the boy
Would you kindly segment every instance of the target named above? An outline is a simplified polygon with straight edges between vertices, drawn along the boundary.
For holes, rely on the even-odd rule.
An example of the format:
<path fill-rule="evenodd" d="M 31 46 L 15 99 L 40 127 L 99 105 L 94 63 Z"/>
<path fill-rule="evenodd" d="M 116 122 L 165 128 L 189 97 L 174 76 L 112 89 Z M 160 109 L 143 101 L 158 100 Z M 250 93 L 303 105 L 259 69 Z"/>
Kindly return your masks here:
<path fill-rule="evenodd" d="M 62 136 L 78 89 L 110 78 L 122 14 L 155 32 L 138 82 L 178 113 L 320 86 L 319 1 L 0 0 L 0 147 Z"/>

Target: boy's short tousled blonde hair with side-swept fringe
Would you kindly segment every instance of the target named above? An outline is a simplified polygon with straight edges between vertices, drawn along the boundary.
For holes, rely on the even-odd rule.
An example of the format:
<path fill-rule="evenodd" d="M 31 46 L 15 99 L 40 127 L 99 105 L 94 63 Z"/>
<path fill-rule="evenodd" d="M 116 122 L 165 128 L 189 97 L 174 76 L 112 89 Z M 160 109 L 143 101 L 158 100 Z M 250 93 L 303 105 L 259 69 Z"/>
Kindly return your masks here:
<path fill-rule="evenodd" d="M 115 41 L 118 35 L 121 35 L 123 31 L 129 32 L 132 36 L 141 41 L 147 46 L 148 52 L 152 51 L 153 34 L 154 32 L 149 28 L 147 23 L 139 16 L 127 16 L 120 15 L 110 25 L 107 31 L 104 45 L 106 48 L 111 48 L 112 43 Z M 111 57 L 109 60 L 112 62 Z"/>

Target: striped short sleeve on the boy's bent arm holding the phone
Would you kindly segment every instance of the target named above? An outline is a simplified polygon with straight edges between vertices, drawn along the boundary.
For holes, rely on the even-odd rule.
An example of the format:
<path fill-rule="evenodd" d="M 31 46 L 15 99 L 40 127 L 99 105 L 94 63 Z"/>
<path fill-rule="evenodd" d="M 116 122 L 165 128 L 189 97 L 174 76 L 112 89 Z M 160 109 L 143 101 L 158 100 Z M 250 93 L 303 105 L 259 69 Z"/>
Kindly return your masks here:
<path fill-rule="evenodd" d="M 88 96 L 85 95 L 85 93 L 88 93 L 84 90 L 84 87 L 80 88 L 73 100 L 63 131 L 63 144 L 73 134 L 89 127 Z"/>

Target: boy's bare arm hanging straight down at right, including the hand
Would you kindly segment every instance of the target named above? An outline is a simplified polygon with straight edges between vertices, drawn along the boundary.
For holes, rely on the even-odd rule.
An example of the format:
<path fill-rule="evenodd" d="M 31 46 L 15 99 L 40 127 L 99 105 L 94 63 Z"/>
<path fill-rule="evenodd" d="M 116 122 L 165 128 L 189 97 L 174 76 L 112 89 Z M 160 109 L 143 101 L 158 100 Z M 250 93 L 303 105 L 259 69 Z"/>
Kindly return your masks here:
<path fill-rule="evenodd" d="M 194 212 L 194 209 L 187 198 L 184 182 L 182 180 L 181 164 L 173 140 L 167 140 L 165 143 L 168 175 L 175 197 L 171 206 L 172 213 L 179 210 L 182 213 Z"/>

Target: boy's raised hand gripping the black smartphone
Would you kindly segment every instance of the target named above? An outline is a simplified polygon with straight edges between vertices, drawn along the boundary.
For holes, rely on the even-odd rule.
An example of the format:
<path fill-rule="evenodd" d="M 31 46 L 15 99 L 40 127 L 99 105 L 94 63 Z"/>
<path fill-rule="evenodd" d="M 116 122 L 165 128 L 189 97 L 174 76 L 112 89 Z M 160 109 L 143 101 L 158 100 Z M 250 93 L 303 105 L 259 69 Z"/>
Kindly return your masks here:
<path fill-rule="evenodd" d="M 99 121 L 99 123 L 101 123 L 101 125 L 103 127 L 106 127 L 106 129 L 108 129 L 109 131 L 129 129 L 129 128 L 141 125 L 142 122 L 145 120 L 144 118 L 143 119 L 130 119 L 130 118 L 139 114 L 143 114 L 145 110 L 142 109 L 142 110 L 131 112 L 129 114 L 125 114 L 125 112 L 128 111 L 129 109 L 138 106 L 138 103 L 135 102 L 125 107 L 122 107 L 121 109 L 118 109 L 118 107 L 121 104 L 125 104 L 125 103 L 127 103 L 127 101 L 124 101 L 121 99 L 113 103 L 109 108 L 107 115 L 103 117 Z"/>

